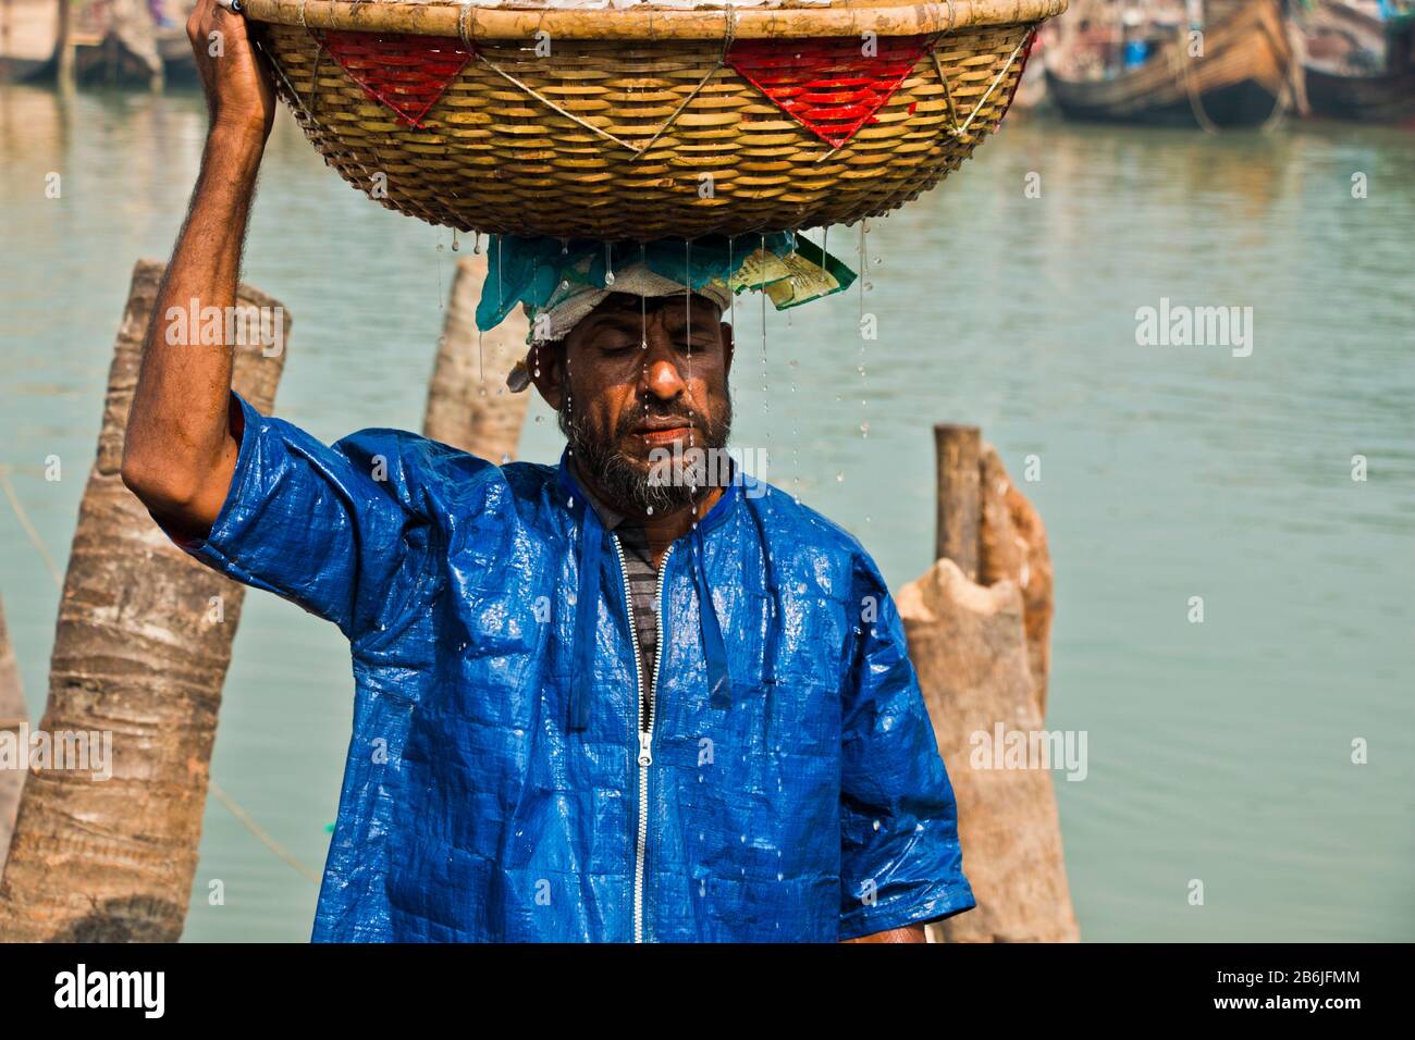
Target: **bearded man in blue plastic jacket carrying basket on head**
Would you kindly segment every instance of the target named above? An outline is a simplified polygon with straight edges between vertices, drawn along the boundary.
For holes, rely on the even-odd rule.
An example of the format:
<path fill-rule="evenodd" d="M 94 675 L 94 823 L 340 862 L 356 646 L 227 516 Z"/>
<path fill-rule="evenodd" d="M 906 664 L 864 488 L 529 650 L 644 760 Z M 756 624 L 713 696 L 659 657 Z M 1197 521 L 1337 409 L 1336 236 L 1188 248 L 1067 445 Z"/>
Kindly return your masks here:
<path fill-rule="evenodd" d="M 241 20 L 202 0 L 190 31 L 214 30 L 157 316 L 235 303 L 275 112 Z M 350 640 L 316 940 L 917 942 L 974 906 L 874 563 L 790 495 L 672 461 L 726 446 L 743 272 L 785 255 L 805 275 L 774 291 L 808 291 L 794 239 L 753 238 L 750 263 L 741 241 L 494 242 L 478 321 L 532 313 L 511 385 L 560 413 L 559 467 L 396 430 L 327 447 L 154 317 L 123 480 L 198 559 Z"/>

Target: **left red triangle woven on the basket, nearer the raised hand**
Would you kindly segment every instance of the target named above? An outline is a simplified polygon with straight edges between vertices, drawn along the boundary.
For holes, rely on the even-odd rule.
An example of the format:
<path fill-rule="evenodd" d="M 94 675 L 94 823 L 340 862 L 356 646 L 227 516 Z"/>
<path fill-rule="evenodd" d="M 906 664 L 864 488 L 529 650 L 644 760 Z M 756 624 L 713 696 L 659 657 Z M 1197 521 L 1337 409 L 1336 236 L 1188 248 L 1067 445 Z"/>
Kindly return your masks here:
<path fill-rule="evenodd" d="M 410 33 L 344 33 L 324 30 L 320 44 L 364 92 L 398 113 L 405 126 L 422 126 L 427 109 L 471 61 L 457 37 Z"/>

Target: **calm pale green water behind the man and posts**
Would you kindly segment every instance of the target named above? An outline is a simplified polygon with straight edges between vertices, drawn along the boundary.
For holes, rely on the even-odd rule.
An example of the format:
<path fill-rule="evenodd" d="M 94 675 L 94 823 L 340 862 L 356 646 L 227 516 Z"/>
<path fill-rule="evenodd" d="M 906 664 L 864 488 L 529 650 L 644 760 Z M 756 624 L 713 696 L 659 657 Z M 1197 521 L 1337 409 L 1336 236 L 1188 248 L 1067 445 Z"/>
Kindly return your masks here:
<path fill-rule="evenodd" d="M 195 96 L 0 88 L 0 464 L 59 567 L 132 263 L 167 256 L 204 126 Z M 1088 733 L 1087 778 L 1056 775 L 1085 938 L 1415 938 L 1412 228 L 1408 133 L 1013 120 L 876 222 L 877 341 L 862 351 L 852 294 L 771 314 L 763 362 L 756 307 L 737 314 L 736 441 L 894 587 L 930 563 L 931 423 L 982 424 L 1019 480 L 1039 457 L 1047 722 Z M 325 440 L 416 429 L 454 260 L 447 232 L 374 207 L 282 122 L 246 252 L 294 316 L 280 413 Z M 1251 357 L 1138 347 L 1135 311 L 1160 297 L 1252 307 Z M 550 461 L 535 415 L 524 456 Z M 38 716 L 58 591 L 7 502 L 0 596 Z M 212 774 L 316 869 L 351 689 L 333 627 L 250 594 Z M 188 938 L 306 940 L 316 894 L 211 801 Z"/>

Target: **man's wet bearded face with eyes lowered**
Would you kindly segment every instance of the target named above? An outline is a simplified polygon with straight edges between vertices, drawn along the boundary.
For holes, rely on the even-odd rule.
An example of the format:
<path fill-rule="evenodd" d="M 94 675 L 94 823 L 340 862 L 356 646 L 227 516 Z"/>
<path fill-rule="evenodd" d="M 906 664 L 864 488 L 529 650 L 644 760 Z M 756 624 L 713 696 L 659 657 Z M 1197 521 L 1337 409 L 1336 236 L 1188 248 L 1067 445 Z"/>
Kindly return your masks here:
<path fill-rule="evenodd" d="M 634 516 L 699 498 L 716 468 L 689 449 L 727 446 L 732 327 L 712 300 L 688 300 L 611 293 L 532 358 L 532 382 L 559 412 L 576 461 L 608 505 Z"/>

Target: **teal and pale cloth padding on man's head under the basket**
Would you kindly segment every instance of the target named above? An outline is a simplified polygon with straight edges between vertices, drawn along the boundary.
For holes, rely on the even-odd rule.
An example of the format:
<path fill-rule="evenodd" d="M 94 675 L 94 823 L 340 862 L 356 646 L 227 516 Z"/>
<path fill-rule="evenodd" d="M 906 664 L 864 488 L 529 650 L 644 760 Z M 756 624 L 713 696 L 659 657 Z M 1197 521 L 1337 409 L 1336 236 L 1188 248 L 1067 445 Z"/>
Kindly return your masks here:
<path fill-rule="evenodd" d="M 757 289 L 782 310 L 839 293 L 853 282 L 855 272 L 791 231 L 610 243 L 492 235 L 477 328 L 495 328 L 516 304 L 525 304 L 528 342 L 543 342 L 563 338 L 616 291 L 657 297 L 692 289 L 726 303 L 733 293 Z"/>

